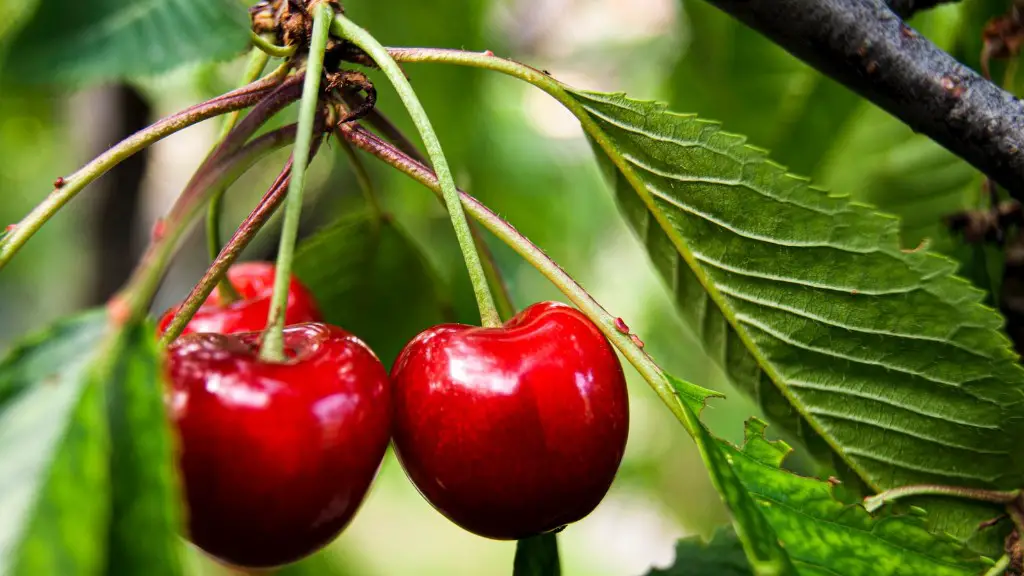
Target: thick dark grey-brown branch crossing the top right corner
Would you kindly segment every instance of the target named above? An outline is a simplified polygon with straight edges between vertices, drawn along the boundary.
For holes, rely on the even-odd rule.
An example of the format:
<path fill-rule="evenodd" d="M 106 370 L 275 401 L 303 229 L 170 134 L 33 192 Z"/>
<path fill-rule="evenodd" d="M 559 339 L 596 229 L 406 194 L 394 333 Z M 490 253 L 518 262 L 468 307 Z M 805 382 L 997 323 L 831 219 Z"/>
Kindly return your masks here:
<path fill-rule="evenodd" d="M 935 0 L 708 1 L 1024 199 L 1024 102 L 893 11 Z"/>

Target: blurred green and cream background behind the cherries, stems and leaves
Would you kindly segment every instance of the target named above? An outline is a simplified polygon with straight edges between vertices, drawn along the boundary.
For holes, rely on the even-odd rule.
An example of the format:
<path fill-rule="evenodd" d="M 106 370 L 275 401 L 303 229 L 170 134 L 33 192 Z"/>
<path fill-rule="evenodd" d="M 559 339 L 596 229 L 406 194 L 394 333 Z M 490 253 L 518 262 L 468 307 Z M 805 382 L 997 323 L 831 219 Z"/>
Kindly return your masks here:
<path fill-rule="evenodd" d="M 351 18 L 388 45 L 490 49 L 579 88 L 626 91 L 719 120 L 822 188 L 904 216 L 907 246 L 927 239 L 964 262 L 964 274 L 979 285 L 997 282 L 997 254 L 956 242 L 940 223 L 942 215 L 978 204 L 981 177 L 975 170 L 702 0 L 345 4 Z M 0 48 L 33 5 L 0 0 L 6 16 L 0 22 Z M 1006 0 L 966 0 L 923 13 L 911 24 L 977 68 L 981 30 L 1007 7 Z M 243 59 L 76 92 L 0 86 L 0 223 L 17 221 L 49 192 L 54 178 L 127 134 L 232 88 Z M 728 399 L 714 402 L 705 419 L 720 436 L 741 440 L 742 421 L 758 414 L 757 408 L 733 394 L 676 318 L 642 247 L 620 218 L 575 120 L 543 92 L 514 79 L 439 65 L 409 65 L 407 72 L 460 184 L 624 318 L 670 371 L 726 393 Z M 380 90 L 378 107 L 408 129 L 386 82 L 371 76 Z M 294 110 L 283 117 L 294 118 Z M 105 301 L 124 282 L 153 222 L 181 191 L 217 129 L 216 122 L 189 128 L 125 162 L 28 244 L 0 274 L 0 348 L 56 317 Z M 263 163 L 229 192 L 225 233 L 248 213 L 286 157 L 287 152 Z M 436 271 L 443 299 L 460 320 L 474 322 L 471 289 L 440 205 L 425 189 L 367 162 L 387 209 Z M 336 146 L 317 156 L 309 187 L 307 233 L 360 202 Z M 272 257 L 275 242 L 269 227 L 246 257 Z M 511 250 L 490 245 L 518 306 L 561 299 Z M 179 253 L 154 310 L 162 312 L 183 297 L 207 261 L 197 232 Z M 378 285 L 387 288 L 374 294 L 377 305 L 397 302 L 394 308 L 424 300 L 411 293 L 417 286 L 386 282 L 395 280 L 390 276 L 384 280 Z M 388 324 L 371 343 L 389 362 L 406 339 L 436 321 L 435 313 Z M 692 443 L 634 376 L 626 460 L 598 509 L 560 535 L 566 574 L 643 574 L 651 565 L 672 561 L 678 538 L 707 536 L 727 522 Z M 389 454 L 364 509 L 338 541 L 323 557 L 284 572 L 501 574 L 511 570 L 514 549 L 513 542 L 475 537 L 433 511 Z M 197 573 L 222 572 L 199 553 L 193 560 Z"/>

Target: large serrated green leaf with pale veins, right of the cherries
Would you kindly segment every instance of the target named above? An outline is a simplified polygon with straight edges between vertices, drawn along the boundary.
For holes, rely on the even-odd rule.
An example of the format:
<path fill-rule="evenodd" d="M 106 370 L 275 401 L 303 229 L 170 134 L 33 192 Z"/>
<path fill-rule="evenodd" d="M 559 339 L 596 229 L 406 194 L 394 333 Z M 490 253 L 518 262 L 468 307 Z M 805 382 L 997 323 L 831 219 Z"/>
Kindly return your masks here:
<path fill-rule="evenodd" d="M 951 260 L 715 123 L 572 94 L 683 318 L 769 418 L 870 490 L 1024 484 L 1024 370 Z M 994 516 L 919 502 L 962 538 Z"/>

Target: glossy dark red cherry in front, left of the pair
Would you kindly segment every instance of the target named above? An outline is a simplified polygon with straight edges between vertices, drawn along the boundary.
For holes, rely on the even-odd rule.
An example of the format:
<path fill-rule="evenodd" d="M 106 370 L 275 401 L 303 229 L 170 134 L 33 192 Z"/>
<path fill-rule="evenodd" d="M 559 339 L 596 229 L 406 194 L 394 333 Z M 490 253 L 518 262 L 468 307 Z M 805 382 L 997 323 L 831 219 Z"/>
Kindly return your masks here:
<path fill-rule="evenodd" d="M 326 324 L 286 328 L 290 359 L 260 334 L 193 334 L 168 349 L 188 536 L 245 567 L 294 562 L 333 540 L 362 502 L 390 435 L 387 372 Z"/>

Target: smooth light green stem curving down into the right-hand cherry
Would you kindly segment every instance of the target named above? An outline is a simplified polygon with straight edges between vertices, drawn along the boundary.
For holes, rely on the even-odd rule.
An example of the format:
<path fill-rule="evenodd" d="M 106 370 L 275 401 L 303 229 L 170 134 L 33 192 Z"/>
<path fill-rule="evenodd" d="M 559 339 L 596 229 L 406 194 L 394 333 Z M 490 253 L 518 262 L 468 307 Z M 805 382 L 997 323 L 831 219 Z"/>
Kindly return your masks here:
<path fill-rule="evenodd" d="M 487 285 L 486 274 L 483 271 L 483 265 L 480 263 L 480 256 L 473 243 L 473 235 L 470 232 L 469 222 L 466 220 L 466 213 L 463 211 L 462 203 L 459 201 L 459 192 L 456 189 L 455 179 L 452 177 L 452 170 L 449 168 L 447 160 L 444 158 L 444 152 L 441 150 L 440 141 L 437 139 L 437 134 L 434 132 L 430 119 L 423 109 L 423 105 L 420 104 L 419 98 L 416 96 L 416 91 L 413 90 L 413 86 L 409 83 L 397 63 L 388 54 L 387 49 L 366 30 L 362 30 L 342 14 L 334 16 L 332 30 L 338 36 L 361 48 L 374 59 L 394 86 L 398 97 L 401 98 L 406 110 L 409 111 L 413 123 L 420 132 L 420 138 L 427 149 L 427 156 L 430 157 L 434 170 L 437 172 L 441 196 L 444 199 L 444 205 L 447 207 L 449 216 L 452 218 L 452 228 L 455 230 L 459 247 L 462 249 L 462 256 L 466 261 L 469 279 L 473 284 L 473 292 L 476 295 L 476 303 L 480 308 L 480 322 L 483 326 L 501 326 L 501 317 L 498 314 L 498 308 L 495 306 L 494 296 Z"/>

